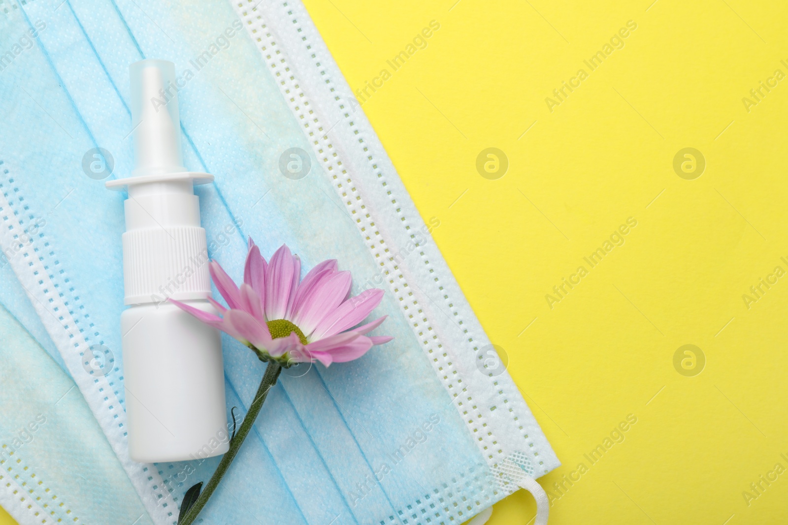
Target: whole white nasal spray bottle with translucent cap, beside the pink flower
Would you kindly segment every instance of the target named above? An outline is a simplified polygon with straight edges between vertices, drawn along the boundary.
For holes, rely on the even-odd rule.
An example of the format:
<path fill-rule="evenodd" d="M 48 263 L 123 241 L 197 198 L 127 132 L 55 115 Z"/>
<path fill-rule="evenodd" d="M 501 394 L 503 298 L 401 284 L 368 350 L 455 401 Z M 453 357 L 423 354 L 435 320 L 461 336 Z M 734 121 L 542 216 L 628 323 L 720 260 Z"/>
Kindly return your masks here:
<path fill-rule="evenodd" d="M 206 301 L 208 250 L 193 188 L 214 176 L 183 167 L 175 65 L 143 60 L 129 69 L 135 168 L 106 183 L 128 188 L 123 275 L 130 308 L 121 315 L 128 453 L 141 463 L 217 456 L 229 448 L 221 339 L 165 300 L 217 313 Z"/>

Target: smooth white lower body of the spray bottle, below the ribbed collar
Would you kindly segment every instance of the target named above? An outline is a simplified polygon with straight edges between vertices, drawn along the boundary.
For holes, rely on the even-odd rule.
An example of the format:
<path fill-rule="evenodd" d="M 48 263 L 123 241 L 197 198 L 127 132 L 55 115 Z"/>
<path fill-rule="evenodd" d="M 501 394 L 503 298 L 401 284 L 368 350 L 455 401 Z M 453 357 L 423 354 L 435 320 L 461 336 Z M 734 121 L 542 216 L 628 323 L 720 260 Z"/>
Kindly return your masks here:
<path fill-rule="evenodd" d="M 205 300 L 186 301 L 217 313 Z M 128 453 L 154 463 L 229 449 L 219 332 L 169 302 L 121 315 Z"/>

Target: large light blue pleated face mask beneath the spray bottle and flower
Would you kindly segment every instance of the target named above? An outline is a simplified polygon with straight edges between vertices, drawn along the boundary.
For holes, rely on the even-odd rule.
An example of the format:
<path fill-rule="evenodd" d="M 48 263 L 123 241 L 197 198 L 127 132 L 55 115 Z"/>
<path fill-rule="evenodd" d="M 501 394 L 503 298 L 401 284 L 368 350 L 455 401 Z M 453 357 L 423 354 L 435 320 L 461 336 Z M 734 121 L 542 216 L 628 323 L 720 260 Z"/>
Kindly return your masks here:
<path fill-rule="evenodd" d="M 153 523 L 176 523 L 185 490 L 216 467 L 206 450 L 229 435 L 191 461 L 128 458 L 124 196 L 102 177 L 131 171 L 128 65 L 148 57 L 176 64 L 186 168 L 216 176 L 195 189 L 210 257 L 236 280 L 248 236 L 267 256 L 287 243 L 305 269 L 336 258 L 353 294 L 386 291 L 374 335 L 396 337 L 283 373 L 205 522 L 462 523 L 520 486 L 538 493 L 533 479 L 559 461 L 489 365 L 430 235 L 440 217 L 418 215 L 303 6 L 61 2 L 0 4 L 0 53 L 13 55 L 0 70 L 0 245 L 18 279 L 0 300 L 36 338 L 45 327 Z M 243 415 L 263 364 L 232 338 L 223 347 L 228 413 Z"/>

